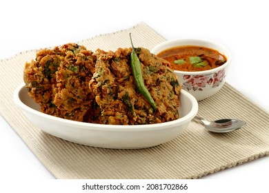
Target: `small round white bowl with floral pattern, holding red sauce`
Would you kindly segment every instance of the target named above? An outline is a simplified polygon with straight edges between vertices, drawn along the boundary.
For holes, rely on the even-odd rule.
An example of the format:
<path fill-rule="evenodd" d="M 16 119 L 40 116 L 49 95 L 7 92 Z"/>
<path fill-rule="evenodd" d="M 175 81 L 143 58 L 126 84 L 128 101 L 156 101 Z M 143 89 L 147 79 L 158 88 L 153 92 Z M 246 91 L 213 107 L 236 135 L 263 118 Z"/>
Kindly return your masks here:
<path fill-rule="evenodd" d="M 162 52 L 163 50 L 174 48 L 180 45 L 203 46 L 217 50 L 226 56 L 226 63 L 212 70 L 204 70 L 199 72 L 184 72 L 179 70 L 174 71 L 179 78 L 179 83 L 182 85 L 183 90 L 186 90 L 195 96 L 197 101 L 206 99 L 207 97 L 216 94 L 226 81 L 226 75 L 231 61 L 230 50 L 228 50 L 228 48 L 225 46 L 213 41 L 203 39 L 177 39 L 160 43 L 159 45 L 155 46 L 151 52 L 153 54 L 159 54 L 159 52 Z"/>

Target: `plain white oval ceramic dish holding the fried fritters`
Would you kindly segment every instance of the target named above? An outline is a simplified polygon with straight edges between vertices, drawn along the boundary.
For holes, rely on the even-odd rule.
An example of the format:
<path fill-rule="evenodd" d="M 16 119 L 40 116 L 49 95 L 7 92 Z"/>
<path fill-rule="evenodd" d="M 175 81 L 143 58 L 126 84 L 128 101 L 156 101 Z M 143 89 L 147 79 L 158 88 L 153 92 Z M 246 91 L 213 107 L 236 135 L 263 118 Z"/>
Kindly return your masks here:
<path fill-rule="evenodd" d="M 150 125 L 102 125 L 70 121 L 39 111 L 25 85 L 14 91 L 14 103 L 39 129 L 61 139 L 100 148 L 136 149 L 149 148 L 175 139 L 185 130 L 197 114 L 195 97 L 181 90 L 180 119 Z"/>

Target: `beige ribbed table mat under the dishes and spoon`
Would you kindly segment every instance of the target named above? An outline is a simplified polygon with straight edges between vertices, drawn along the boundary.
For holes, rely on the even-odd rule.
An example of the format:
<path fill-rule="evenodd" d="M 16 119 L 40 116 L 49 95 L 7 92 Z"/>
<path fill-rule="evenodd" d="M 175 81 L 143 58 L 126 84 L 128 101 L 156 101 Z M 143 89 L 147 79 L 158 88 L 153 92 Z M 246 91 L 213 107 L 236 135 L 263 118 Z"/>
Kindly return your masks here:
<path fill-rule="evenodd" d="M 145 23 L 79 43 L 90 50 L 116 50 L 135 45 L 152 49 L 165 41 Z M 34 127 L 13 103 L 12 94 L 23 83 L 23 67 L 35 50 L 0 61 L 1 116 L 57 179 L 197 179 L 269 155 L 269 114 L 232 86 L 199 102 L 208 119 L 238 118 L 248 124 L 229 134 L 212 134 L 192 122 L 177 139 L 142 150 L 92 148 L 58 139 Z M 217 113 L 216 113 L 217 112 Z M 12 165 L 8 165 L 10 170 Z"/>

